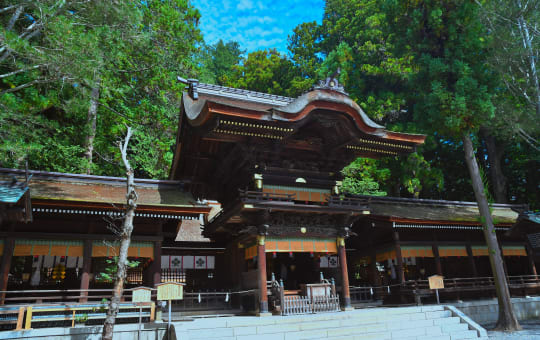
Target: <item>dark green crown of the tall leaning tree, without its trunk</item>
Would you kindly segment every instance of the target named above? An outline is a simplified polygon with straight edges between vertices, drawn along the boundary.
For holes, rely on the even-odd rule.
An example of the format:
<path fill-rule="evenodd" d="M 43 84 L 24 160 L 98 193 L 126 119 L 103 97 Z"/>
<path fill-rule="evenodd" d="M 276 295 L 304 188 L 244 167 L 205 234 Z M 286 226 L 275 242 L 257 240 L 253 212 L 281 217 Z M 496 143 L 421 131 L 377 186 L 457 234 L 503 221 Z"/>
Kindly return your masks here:
<path fill-rule="evenodd" d="M 402 53 L 415 60 L 410 75 L 415 119 L 427 130 L 461 138 L 494 116 L 495 85 L 486 65 L 487 30 L 470 1 L 389 1 Z M 399 14 L 399 15 L 398 15 Z"/>

